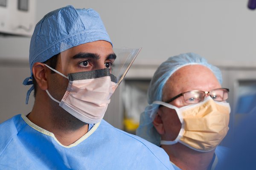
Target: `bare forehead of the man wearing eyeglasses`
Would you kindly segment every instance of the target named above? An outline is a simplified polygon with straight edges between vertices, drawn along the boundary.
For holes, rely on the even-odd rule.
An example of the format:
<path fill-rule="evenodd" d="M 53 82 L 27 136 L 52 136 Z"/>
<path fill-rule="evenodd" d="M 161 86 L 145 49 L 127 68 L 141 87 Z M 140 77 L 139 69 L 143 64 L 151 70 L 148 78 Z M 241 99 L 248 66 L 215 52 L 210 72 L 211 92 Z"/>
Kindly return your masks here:
<path fill-rule="evenodd" d="M 203 65 L 186 65 L 167 80 L 163 88 L 163 98 L 164 94 L 174 97 L 186 91 L 210 91 L 215 88 L 221 88 L 221 85 L 209 68 Z"/>

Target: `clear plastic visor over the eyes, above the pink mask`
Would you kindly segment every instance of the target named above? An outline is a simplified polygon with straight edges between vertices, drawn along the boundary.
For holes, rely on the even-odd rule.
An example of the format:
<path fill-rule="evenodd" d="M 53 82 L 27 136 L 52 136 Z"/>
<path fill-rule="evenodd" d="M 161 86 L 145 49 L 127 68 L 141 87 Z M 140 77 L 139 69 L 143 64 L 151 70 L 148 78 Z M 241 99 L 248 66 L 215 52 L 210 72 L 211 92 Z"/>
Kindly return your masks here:
<path fill-rule="evenodd" d="M 62 43 L 61 49 L 65 48 L 67 44 Z M 58 71 L 68 77 L 68 74 L 108 68 L 110 74 L 116 77 L 117 87 L 140 50 L 141 48 L 112 48 L 111 45 L 106 47 L 106 45 L 82 44 L 60 53 L 61 66 Z"/>

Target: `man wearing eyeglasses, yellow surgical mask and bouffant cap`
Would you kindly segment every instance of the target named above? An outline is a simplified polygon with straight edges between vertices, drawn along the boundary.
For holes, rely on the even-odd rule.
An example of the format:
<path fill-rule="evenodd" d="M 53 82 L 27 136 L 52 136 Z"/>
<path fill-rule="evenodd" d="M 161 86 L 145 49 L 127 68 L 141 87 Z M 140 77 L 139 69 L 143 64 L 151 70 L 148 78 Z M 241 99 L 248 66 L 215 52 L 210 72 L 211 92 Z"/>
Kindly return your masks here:
<path fill-rule="evenodd" d="M 230 114 L 221 82 L 221 71 L 198 54 L 170 57 L 151 79 L 137 135 L 162 147 L 177 170 L 218 169 Z"/>

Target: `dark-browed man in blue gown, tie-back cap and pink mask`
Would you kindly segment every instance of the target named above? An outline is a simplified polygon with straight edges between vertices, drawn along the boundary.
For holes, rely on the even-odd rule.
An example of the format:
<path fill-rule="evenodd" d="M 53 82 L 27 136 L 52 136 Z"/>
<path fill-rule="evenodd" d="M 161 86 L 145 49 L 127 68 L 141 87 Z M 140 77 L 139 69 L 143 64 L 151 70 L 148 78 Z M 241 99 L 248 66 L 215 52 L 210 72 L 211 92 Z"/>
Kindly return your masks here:
<path fill-rule="evenodd" d="M 27 115 L 0 125 L 2 170 L 172 169 L 164 150 L 102 118 L 117 87 L 112 42 L 93 9 L 66 6 L 32 35 Z M 30 80 L 32 79 L 32 81 Z"/>

